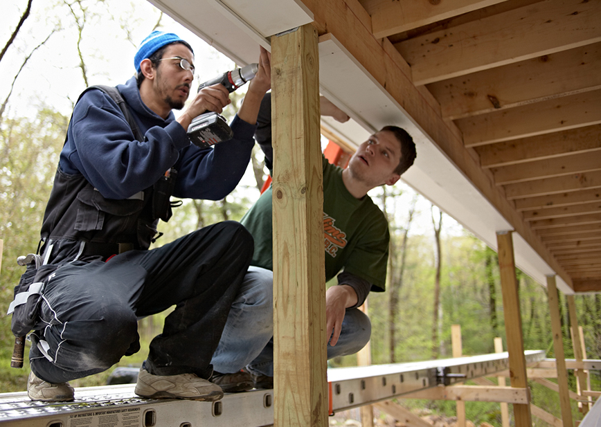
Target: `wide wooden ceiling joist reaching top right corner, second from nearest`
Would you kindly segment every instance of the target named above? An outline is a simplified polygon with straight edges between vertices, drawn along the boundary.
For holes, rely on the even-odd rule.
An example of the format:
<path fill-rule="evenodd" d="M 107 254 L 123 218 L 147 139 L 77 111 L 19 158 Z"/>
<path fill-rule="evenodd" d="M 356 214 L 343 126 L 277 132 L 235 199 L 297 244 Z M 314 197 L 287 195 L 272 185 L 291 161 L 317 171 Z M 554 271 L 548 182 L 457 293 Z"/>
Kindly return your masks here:
<path fill-rule="evenodd" d="M 395 47 L 411 65 L 413 82 L 429 84 L 601 42 L 600 21 L 596 1 L 546 0 Z"/>

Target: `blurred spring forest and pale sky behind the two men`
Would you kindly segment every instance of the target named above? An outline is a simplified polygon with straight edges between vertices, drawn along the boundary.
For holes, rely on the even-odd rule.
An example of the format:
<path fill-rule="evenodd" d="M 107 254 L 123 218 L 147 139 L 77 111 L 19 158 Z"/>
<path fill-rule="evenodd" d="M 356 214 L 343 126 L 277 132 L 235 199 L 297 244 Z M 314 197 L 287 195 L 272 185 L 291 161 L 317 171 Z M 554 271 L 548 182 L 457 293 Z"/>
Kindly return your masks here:
<path fill-rule="evenodd" d="M 50 193 L 69 116 L 79 93 L 91 84 L 120 84 L 134 72 L 138 43 L 154 29 L 172 31 L 195 51 L 197 84 L 235 64 L 145 0 L 0 0 L 5 24 L 0 27 L 0 307 L 8 309 L 23 268 L 19 255 L 36 251 L 39 227 Z M 244 89 L 233 93 L 224 113 L 233 117 Z M 193 92 L 195 93 L 195 92 Z M 323 144 L 327 141 L 323 141 Z M 234 192 L 221 201 L 186 200 L 174 210 L 157 244 L 225 219 L 239 220 L 258 199 L 267 178 L 259 149 Z M 463 354 L 494 352 L 494 337 L 505 343 L 503 305 L 496 253 L 481 240 L 432 206 L 408 185 L 370 192 L 385 212 L 391 229 L 387 291 L 372 293 L 369 314 L 374 364 L 451 357 L 451 325 L 462 328 Z M 546 289 L 517 271 L 524 346 L 543 349 L 553 358 Z M 331 285 L 331 284 L 328 284 Z M 566 357 L 573 357 L 566 298 L 559 295 Z M 577 314 L 584 327 L 589 358 L 601 355 L 601 298 L 577 296 Z M 6 311 L 5 311 L 6 312 Z M 150 339 L 161 332 L 166 314 L 140 322 L 142 351 L 118 365 L 140 365 Z M 10 317 L 0 318 L 0 391 L 24 390 L 28 364 L 10 368 L 14 337 Z M 28 343 L 29 345 L 29 343 Z M 330 361 L 354 365 L 355 356 Z M 111 370 L 73 381 L 99 385 Z M 599 372 L 591 372 L 599 390 Z M 571 389 L 575 379 L 570 372 Z M 560 417 L 557 394 L 530 383 L 533 403 Z M 454 415 L 453 402 L 409 401 L 410 408 L 428 408 Z M 467 402 L 467 419 L 501 425 L 499 405 Z M 573 404 L 575 419 L 579 419 Z M 535 425 L 544 426 L 535 419 Z"/>

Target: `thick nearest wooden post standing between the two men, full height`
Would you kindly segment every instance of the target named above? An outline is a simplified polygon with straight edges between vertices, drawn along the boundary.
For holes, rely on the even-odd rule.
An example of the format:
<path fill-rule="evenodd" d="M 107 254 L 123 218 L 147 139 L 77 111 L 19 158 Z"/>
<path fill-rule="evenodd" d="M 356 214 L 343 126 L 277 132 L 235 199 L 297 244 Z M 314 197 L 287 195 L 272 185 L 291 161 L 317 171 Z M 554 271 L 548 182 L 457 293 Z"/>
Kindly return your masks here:
<path fill-rule="evenodd" d="M 273 419 L 328 425 L 317 32 L 271 37 Z"/>

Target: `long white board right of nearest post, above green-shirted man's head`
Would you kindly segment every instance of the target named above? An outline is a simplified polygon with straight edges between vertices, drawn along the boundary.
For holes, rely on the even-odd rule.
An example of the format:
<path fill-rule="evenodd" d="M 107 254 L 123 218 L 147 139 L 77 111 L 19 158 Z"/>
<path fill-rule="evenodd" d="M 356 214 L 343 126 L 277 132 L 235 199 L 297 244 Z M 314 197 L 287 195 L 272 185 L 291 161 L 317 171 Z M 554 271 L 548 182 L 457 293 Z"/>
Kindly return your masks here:
<path fill-rule="evenodd" d="M 496 250 L 496 232 L 512 230 L 511 224 L 335 37 L 319 44 L 319 81 L 323 96 L 353 119 L 339 123 L 322 118 L 325 128 L 358 147 L 377 129 L 403 127 L 418 149 L 403 181 Z M 516 265 L 546 285 L 546 275 L 553 275 L 553 270 L 523 237 L 518 233 L 512 237 Z M 557 286 L 564 293 L 573 293 L 559 276 Z"/>

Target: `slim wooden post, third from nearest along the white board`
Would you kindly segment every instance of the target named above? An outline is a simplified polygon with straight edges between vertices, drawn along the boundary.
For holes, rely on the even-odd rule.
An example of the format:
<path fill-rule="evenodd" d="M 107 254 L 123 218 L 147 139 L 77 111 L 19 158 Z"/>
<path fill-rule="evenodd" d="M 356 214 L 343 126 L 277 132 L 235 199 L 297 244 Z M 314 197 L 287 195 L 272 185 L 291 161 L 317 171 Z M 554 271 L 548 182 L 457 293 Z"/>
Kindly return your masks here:
<path fill-rule="evenodd" d="M 564 356 L 564 339 L 562 336 L 562 322 L 559 318 L 559 298 L 557 298 L 557 284 L 555 276 L 547 276 L 547 293 L 549 298 L 549 311 L 551 315 L 551 331 L 553 332 L 553 349 L 555 350 L 555 366 L 557 367 L 557 384 L 559 385 L 559 406 L 562 408 L 564 427 L 572 427 L 572 408 L 568 388 L 568 370 Z"/>

